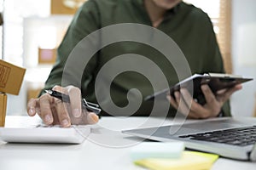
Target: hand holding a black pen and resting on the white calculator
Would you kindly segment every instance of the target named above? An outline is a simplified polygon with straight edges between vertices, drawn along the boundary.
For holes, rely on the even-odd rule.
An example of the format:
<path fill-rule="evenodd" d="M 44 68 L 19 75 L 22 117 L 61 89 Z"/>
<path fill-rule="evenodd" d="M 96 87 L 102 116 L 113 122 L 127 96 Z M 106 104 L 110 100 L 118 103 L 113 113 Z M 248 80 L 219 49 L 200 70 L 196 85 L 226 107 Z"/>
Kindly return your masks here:
<path fill-rule="evenodd" d="M 94 112 L 85 111 L 81 106 L 81 91 L 79 88 L 55 86 L 52 90 L 67 94 L 70 103 L 64 103 L 49 94 L 43 94 L 38 99 L 30 99 L 27 103 L 27 114 L 38 116 L 46 125 L 60 124 L 70 127 L 71 124 L 95 124 L 99 117 Z"/>

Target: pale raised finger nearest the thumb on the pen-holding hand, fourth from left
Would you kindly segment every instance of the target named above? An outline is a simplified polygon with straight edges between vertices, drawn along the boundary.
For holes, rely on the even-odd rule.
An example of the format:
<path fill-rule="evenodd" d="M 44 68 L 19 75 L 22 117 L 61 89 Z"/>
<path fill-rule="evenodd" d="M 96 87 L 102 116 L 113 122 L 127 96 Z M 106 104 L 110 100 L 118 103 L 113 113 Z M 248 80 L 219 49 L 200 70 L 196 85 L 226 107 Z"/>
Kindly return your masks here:
<path fill-rule="evenodd" d="M 70 98 L 71 112 L 74 117 L 79 117 L 82 114 L 82 105 L 81 105 L 81 91 L 79 88 L 68 86 L 64 88 L 67 91 L 67 94 Z"/>

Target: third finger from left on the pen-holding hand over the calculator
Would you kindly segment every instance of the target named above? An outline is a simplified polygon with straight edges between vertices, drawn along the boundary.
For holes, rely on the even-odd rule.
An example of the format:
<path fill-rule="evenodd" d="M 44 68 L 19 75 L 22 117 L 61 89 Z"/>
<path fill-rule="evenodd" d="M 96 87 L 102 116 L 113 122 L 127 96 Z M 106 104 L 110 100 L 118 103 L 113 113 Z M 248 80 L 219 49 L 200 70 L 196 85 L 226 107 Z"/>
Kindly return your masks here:
<path fill-rule="evenodd" d="M 61 127 L 70 127 L 71 120 L 68 116 L 67 106 L 60 99 L 55 99 L 54 104 Z"/>

